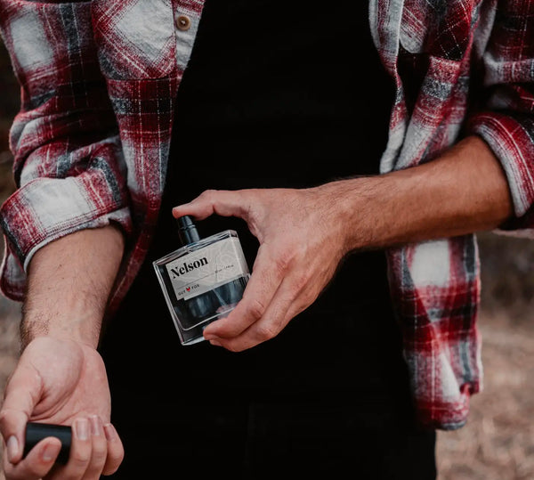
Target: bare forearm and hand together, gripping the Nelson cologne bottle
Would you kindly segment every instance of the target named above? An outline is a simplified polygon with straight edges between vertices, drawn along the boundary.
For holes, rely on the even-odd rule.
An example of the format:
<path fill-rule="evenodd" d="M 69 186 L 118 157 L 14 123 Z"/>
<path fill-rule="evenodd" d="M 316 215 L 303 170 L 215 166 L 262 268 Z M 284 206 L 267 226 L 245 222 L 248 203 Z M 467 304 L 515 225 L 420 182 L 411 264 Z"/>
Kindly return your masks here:
<path fill-rule="evenodd" d="M 239 216 L 259 240 L 243 298 L 204 336 L 241 351 L 278 335 L 312 305 L 353 250 L 494 228 L 512 215 L 498 159 L 476 137 L 441 159 L 310 189 L 205 191 L 175 217 Z"/>

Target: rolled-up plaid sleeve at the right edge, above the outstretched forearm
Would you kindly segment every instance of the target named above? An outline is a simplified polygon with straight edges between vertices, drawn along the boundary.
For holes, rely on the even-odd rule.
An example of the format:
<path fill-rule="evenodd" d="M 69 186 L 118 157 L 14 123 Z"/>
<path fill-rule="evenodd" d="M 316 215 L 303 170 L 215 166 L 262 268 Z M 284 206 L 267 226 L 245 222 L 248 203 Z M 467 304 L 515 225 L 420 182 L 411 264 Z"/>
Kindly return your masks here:
<path fill-rule="evenodd" d="M 483 99 L 467 122 L 500 161 L 514 218 L 500 231 L 534 237 L 534 11 L 530 2 L 498 2 L 482 56 Z M 475 86 L 477 87 L 477 86 Z"/>

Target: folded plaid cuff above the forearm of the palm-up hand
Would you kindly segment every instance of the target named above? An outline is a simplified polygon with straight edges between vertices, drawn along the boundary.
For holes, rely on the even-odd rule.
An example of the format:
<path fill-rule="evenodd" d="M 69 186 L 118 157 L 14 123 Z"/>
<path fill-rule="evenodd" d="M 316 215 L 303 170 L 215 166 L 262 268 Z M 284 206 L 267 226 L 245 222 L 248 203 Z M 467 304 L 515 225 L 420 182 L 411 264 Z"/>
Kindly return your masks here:
<path fill-rule="evenodd" d="M 6 297 L 23 299 L 28 264 L 36 251 L 51 241 L 112 223 L 126 235 L 132 232 L 125 193 L 108 182 L 98 170 L 76 177 L 38 178 L 4 202 L 0 209 L 5 238 L 0 289 Z"/>

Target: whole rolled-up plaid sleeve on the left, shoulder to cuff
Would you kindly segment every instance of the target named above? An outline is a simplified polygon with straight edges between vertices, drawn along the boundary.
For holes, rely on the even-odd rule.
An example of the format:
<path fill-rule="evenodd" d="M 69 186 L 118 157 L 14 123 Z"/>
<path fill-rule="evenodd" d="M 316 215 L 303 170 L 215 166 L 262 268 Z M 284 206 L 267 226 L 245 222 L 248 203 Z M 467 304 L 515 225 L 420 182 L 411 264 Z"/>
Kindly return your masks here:
<path fill-rule="evenodd" d="M 35 252 L 64 235 L 131 230 L 125 161 L 101 76 L 91 3 L 0 0 L 0 33 L 20 83 L 10 148 L 17 189 L 0 209 L 0 286 L 22 300 Z"/>

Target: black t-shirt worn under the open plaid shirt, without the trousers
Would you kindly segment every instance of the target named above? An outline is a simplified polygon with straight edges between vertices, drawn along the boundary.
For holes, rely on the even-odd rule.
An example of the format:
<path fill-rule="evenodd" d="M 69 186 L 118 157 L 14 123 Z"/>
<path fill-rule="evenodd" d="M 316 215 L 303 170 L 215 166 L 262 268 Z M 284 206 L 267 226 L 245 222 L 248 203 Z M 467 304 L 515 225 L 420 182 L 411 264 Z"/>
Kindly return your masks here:
<path fill-rule="evenodd" d="M 201 191 L 305 188 L 377 174 L 392 100 L 367 2 L 206 1 L 178 91 L 158 229 L 102 344 L 113 385 L 142 378 L 152 391 L 209 390 L 219 398 L 387 396 L 402 385 L 405 395 L 384 252 L 349 256 L 277 338 L 239 354 L 207 342 L 180 345 L 151 265 L 180 246 L 171 208 Z M 203 236 L 228 228 L 252 267 L 258 243 L 244 222 L 214 216 L 198 224 Z"/>

